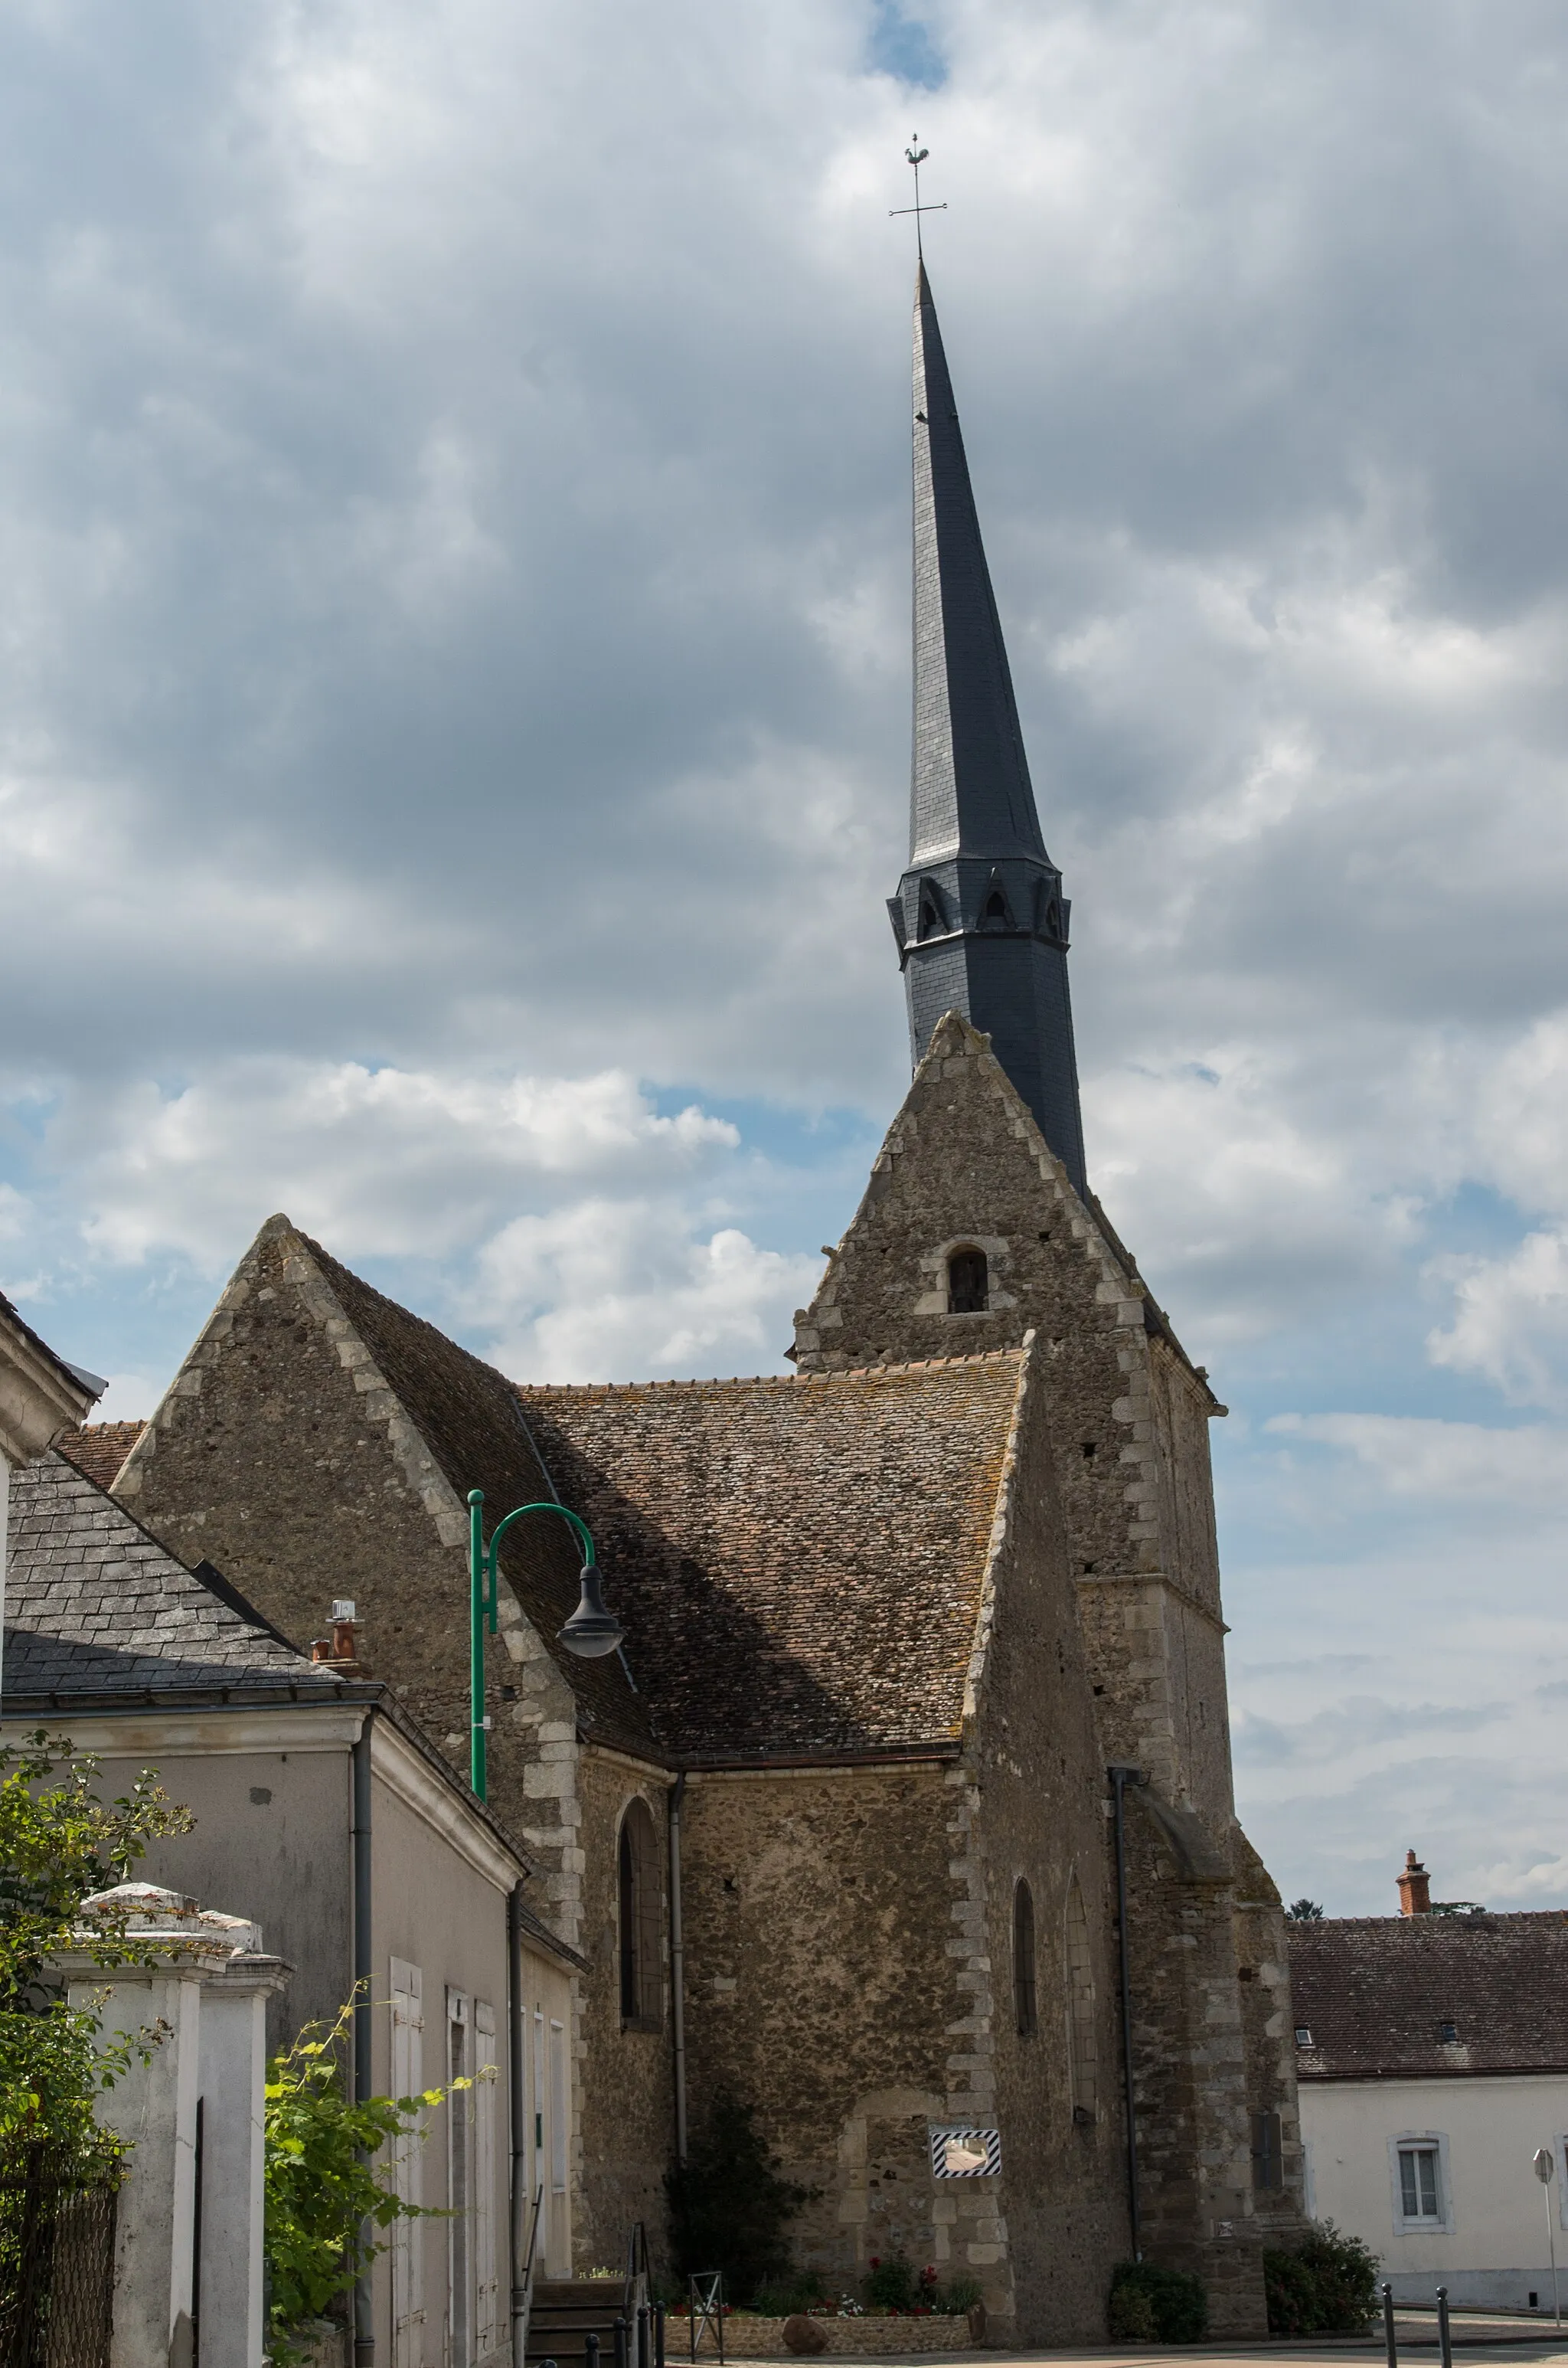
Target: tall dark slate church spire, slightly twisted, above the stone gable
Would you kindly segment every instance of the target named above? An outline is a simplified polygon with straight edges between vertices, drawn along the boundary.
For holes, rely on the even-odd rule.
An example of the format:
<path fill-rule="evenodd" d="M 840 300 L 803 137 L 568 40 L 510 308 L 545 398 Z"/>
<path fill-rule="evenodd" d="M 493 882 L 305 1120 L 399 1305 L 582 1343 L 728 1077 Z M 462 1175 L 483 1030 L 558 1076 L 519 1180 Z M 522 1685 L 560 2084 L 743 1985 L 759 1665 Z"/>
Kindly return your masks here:
<path fill-rule="evenodd" d="M 926 265 L 914 279 L 914 762 L 888 897 L 914 1061 L 945 1011 L 981 1028 L 1085 1193 L 1068 902 L 1045 852 Z"/>

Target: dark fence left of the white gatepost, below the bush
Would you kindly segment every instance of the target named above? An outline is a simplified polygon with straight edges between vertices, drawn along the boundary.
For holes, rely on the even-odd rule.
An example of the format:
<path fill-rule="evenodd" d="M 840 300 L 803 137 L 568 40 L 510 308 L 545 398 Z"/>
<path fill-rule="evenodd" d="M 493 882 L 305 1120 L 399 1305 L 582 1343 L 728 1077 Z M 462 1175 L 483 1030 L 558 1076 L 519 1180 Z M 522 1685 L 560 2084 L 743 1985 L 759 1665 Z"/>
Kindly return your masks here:
<path fill-rule="evenodd" d="M 0 2368 L 109 2368 L 121 2171 L 0 2150 Z"/>

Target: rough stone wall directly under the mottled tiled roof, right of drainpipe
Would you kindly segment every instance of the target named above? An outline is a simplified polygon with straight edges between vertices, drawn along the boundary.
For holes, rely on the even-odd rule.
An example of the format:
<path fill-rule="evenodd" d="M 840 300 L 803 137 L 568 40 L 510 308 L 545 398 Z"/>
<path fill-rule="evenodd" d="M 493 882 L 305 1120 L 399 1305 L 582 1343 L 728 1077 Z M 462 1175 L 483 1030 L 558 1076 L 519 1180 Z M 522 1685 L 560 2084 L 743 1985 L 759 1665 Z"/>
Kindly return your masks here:
<path fill-rule="evenodd" d="M 1011 2318 L 990 2181 L 938 2195 L 931 2179 L 931 2122 L 976 2110 L 964 1793 L 943 1762 L 692 1776 L 689 2112 L 699 2134 L 715 2096 L 753 2105 L 786 2176 L 817 2190 L 789 2231 L 801 2266 L 853 2287 L 902 2247 L 973 2266 Z"/>

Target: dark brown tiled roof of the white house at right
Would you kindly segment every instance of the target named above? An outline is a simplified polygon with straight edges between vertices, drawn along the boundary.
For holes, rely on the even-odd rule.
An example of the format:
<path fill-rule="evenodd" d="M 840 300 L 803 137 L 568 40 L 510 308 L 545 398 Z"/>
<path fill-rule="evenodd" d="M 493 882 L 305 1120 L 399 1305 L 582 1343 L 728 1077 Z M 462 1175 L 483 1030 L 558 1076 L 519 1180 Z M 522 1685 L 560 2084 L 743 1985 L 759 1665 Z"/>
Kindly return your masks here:
<path fill-rule="evenodd" d="M 1568 2070 L 1563 1909 L 1286 1930 L 1300 2079 Z"/>

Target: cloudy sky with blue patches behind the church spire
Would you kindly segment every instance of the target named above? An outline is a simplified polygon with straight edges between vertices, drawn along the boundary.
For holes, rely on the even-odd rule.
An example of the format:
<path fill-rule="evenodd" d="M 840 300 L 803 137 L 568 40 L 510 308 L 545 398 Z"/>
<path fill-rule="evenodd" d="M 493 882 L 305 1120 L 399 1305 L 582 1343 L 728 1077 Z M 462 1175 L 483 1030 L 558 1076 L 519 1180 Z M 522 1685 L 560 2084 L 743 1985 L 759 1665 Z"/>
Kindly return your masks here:
<path fill-rule="evenodd" d="M 9 0 L 0 1286 L 767 1371 L 907 1075 L 902 149 L 1286 1897 L 1568 1902 L 1568 21 Z"/>

